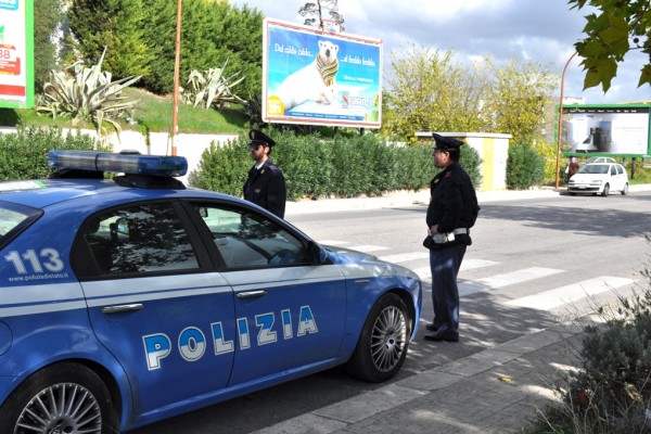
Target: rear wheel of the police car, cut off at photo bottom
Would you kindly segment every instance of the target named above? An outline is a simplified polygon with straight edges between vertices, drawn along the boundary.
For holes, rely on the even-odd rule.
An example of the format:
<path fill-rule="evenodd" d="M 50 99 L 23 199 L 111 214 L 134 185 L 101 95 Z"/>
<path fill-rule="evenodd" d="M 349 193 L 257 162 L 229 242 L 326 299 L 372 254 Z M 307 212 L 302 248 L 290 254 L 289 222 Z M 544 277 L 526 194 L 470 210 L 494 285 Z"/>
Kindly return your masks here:
<path fill-rule="evenodd" d="M 34 426 L 28 431 L 22 424 Z M 62 362 L 28 376 L 0 407 L 2 433 L 119 432 L 111 394 L 89 368 Z"/>

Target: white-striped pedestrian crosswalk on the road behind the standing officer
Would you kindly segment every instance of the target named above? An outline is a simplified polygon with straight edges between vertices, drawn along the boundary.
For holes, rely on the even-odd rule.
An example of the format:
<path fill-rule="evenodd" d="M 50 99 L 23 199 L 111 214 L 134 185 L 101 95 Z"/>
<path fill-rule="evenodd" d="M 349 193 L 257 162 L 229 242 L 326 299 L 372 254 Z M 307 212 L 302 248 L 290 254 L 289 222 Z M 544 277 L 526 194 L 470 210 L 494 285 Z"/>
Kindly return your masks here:
<path fill-rule="evenodd" d="M 432 273 L 429 266 L 430 254 L 426 251 L 408 252 L 399 254 L 381 255 L 379 252 L 388 251 L 390 247 L 381 245 L 347 245 L 349 243 L 337 240 L 327 240 L 322 244 L 337 245 L 354 251 L 372 253 L 382 260 L 393 264 L 408 265 L 423 281 L 431 281 Z M 418 265 L 413 267 L 413 265 Z M 564 273 L 566 270 L 546 267 L 527 267 L 507 272 L 497 272 L 494 275 L 480 277 L 475 279 L 464 279 L 463 273 L 471 270 L 497 268 L 500 263 L 488 259 L 464 258 L 461 264 L 459 279 L 459 296 L 464 297 L 472 294 L 499 290 L 511 285 L 524 284 L 549 278 L 551 276 Z M 599 276 L 596 278 L 572 282 L 559 288 L 551 288 L 540 291 L 533 295 L 526 295 L 519 298 L 506 299 L 505 305 L 511 307 L 524 307 L 536 310 L 550 310 L 566 306 L 584 298 L 590 298 L 607 291 L 614 291 L 624 286 L 630 286 L 635 281 L 630 278 L 616 276 Z"/>

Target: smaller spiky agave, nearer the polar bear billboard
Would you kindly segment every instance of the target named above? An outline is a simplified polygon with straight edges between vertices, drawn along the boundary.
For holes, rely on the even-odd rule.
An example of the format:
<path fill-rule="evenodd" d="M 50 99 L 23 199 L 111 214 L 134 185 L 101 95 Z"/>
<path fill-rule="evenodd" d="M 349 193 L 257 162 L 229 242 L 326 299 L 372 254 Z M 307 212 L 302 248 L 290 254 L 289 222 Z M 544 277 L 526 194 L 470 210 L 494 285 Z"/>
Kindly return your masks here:
<path fill-rule="evenodd" d="M 246 104 L 245 100 L 234 94 L 231 90 L 242 82 L 245 77 L 238 78 L 240 72 L 230 77 L 225 77 L 224 73 L 227 64 L 228 60 L 224 63 L 222 67 L 209 68 L 204 71 L 204 74 L 193 69 L 188 77 L 188 88 L 181 91 L 182 101 L 195 107 L 204 104 L 206 108 L 209 108 L 215 102 L 217 110 L 221 110 L 225 104 L 230 102 Z"/>

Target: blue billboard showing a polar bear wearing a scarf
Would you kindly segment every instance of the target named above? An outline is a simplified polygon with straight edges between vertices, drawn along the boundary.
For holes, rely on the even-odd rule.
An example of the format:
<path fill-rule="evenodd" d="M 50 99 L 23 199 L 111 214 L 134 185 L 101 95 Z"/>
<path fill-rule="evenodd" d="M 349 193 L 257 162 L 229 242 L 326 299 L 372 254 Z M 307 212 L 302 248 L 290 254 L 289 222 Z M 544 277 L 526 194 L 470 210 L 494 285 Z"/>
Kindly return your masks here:
<path fill-rule="evenodd" d="M 263 119 L 380 128 L 382 41 L 265 18 Z"/>

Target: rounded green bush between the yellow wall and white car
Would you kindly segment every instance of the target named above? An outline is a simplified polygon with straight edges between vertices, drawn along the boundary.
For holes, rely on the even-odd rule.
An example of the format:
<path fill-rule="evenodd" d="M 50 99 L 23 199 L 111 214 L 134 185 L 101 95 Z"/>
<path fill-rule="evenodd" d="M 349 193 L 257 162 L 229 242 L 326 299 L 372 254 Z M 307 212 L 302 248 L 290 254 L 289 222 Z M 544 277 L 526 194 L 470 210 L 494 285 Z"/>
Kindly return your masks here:
<path fill-rule="evenodd" d="M 528 144 L 512 144 L 507 158 L 507 187 L 523 190 L 539 183 L 545 175 L 545 159 Z"/>

